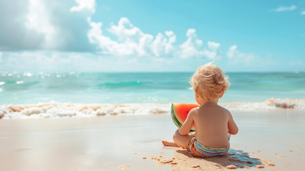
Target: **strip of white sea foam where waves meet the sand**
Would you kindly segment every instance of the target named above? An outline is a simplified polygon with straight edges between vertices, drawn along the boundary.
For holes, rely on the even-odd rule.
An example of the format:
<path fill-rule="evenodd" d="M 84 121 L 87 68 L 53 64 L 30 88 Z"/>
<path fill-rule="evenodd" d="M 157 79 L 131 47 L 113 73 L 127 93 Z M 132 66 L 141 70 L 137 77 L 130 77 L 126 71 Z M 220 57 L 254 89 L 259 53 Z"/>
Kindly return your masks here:
<path fill-rule="evenodd" d="M 305 99 L 270 98 L 264 102 L 220 103 L 230 111 L 262 111 L 276 109 L 305 109 Z M 90 117 L 101 115 L 169 114 L 171 104 L 78 104 L 51 101 L 31 105 L 0 106 L 0 118 Z"/>

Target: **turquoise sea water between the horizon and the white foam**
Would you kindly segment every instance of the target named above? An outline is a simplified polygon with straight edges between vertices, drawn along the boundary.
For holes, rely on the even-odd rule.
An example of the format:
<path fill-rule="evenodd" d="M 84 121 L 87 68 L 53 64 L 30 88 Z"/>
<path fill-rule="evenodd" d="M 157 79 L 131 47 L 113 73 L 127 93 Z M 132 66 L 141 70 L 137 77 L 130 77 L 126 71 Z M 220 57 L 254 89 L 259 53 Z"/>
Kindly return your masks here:
<path fill-rule="evenodd" d="M 227 73 L 220 102 L 305 98 L 305 73 Z M 38 102 L 195 103 L 192 73 L 0 72 L 0 105 Z"/>

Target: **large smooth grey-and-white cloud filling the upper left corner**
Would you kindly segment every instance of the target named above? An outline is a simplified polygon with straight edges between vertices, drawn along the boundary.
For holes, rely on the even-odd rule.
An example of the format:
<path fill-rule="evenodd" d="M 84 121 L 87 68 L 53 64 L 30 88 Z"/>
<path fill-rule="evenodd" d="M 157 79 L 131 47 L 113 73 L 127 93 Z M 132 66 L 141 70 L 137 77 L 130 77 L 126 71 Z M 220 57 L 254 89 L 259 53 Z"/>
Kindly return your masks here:
<path fill-rule="evenodd" d="M 92 50 L 86 20 L 92 13 L 87 7 L 71 12 L 75 4 L 75 0 L 0 0 L 0 16 L 7 16 L 0 17 L 0 50 Z"/>

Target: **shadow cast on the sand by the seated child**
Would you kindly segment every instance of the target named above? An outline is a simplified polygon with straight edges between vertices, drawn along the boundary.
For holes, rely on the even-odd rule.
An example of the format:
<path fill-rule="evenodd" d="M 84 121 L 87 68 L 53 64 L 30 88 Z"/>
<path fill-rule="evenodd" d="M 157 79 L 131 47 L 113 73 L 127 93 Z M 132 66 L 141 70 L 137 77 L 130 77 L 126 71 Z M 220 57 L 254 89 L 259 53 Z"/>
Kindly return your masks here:
<path fill-rule="evenodd" d="M 211 157 L 211 158 L 198 158 L 192 155 L 191 153 L 187 153 L 186 150 L 176 150 L 176 152 L 184 154 L 190 158 L 206 160 L 215 163 L 216 166 L 222 166 L 222 167 L 235 165 L 238 168 L 251 168 L 257 165 L 262 166 L 266 164 L 263 163 L 260 159 L 251 158 L 248 152 L 244 152 L 242 150 L 230 149 L 226 156 Z"/>

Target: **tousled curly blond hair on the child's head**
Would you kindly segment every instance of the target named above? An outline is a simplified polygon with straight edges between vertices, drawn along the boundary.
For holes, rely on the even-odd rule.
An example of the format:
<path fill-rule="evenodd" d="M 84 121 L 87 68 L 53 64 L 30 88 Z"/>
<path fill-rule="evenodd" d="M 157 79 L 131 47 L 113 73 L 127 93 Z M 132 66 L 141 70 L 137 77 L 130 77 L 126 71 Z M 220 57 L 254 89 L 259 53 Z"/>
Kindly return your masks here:
<path fill-rule="evenodd" d="M 212 62 L 199 66 L 191 76 L 191 90 L 206 100 L 221 98 L 230 86 L 229 76 Z"/>

